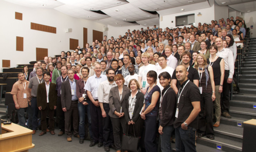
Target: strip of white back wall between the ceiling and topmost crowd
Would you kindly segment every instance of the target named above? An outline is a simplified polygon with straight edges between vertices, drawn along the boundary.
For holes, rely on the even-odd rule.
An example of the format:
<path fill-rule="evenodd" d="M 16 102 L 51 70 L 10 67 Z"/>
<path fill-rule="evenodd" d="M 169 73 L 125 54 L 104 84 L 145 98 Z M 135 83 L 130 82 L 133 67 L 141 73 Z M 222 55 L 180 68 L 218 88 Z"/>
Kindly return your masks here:
<path fill-rule="evenodd" d="M 107 31 L 107 39 L 110 39 L 111 36 L 113 36 L 115 39 L 119 37 L 119 35 L 124 36 L 126 35 L 126 32 L 128 29 L 130 29 L 130 32 L 132 32 L 134 29 L 137 31 L 141 28 L 147 29 L 147 26 L 142 26 L 142 25 L 135 25 L 135 26 L 121 26 L 121 27 L 115 27 L 111 25 L 107 25 L 109 30 Z M 149 29 L 152 29 L 154 26 L 149 26 Z"/>

